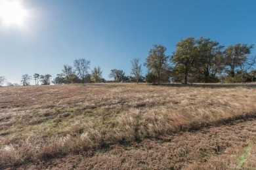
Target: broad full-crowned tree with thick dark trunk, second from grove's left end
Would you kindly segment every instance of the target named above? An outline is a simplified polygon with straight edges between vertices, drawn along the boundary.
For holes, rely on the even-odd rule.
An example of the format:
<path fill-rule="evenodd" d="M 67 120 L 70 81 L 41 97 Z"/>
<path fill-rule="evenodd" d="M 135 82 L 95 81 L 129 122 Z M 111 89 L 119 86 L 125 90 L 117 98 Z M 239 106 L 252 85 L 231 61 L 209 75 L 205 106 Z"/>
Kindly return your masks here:
<path fill-rule="evenodd" d="M 175 63 L 175 70 L 184 74 L 184 84 L 188 83 L 188 74 L 200 65 L 198 46 L 194 37 L 188 37 L 176 44 L 171 60 Z"/>

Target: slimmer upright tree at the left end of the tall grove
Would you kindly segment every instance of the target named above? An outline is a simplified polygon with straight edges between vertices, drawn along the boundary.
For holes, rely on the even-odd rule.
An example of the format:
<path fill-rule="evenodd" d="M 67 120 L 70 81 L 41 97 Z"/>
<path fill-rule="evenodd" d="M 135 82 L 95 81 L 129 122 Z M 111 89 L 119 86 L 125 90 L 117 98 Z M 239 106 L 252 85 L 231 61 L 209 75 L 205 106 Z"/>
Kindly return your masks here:
<path fill-rule="evenodd" d="M 148 58 L 146 59 L 146 67 L 150 73 L 157 76 L 158 84 L 160 84 L 161 72 L 167 67 L 168 56 L 165 56 L 166 48 L 162 45 L 154 45 L 150 49 Z"/>

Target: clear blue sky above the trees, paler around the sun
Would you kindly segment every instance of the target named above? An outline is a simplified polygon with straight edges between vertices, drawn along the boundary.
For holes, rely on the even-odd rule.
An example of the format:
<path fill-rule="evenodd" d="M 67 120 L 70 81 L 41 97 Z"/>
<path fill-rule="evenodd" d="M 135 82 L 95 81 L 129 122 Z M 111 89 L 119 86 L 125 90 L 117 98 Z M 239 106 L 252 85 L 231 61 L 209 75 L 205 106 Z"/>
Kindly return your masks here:
<path fill-rule="evenodd" d="M 100 66 L 106 80 L 111 69 L 130 75 L 131 59 L 143 64 L 153 44 L 171 56 L 191 36 L 224 46 L 256 44 L 255 0 L 26 0 L 22 6 L 29 13 L 22 26 L 0 18 L 0 75 L 18 84 L 24 74 L 54 78 L 79 58 L 91 61 L 91 70 Z"/>

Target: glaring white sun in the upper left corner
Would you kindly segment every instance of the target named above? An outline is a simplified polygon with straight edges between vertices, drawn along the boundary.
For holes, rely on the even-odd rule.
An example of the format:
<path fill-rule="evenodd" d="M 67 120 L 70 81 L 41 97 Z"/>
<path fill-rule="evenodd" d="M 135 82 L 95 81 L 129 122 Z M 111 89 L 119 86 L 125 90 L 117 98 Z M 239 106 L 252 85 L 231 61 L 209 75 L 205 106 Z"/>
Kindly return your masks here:
<path fill-rule="evenodd" d="M 4 25 L 22 26 L 28 17 L 21 0 L 0 0 L 0 20 Z"/>

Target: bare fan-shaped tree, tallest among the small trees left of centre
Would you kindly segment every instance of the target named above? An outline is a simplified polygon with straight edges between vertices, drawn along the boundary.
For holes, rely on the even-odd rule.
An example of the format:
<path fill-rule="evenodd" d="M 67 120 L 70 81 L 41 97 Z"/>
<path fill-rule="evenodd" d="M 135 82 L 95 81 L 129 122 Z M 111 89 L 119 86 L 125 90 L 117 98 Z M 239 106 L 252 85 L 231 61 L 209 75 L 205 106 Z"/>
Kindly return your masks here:
<path fill-rule="evenodd" d="M 90 61 L 84 58 L 74 60 L 75 71 L 77 71 L 77 76 L 79 76 L 82 82 L 85 82 L 85 75 L 87 75 L 90 69 Z"/>

